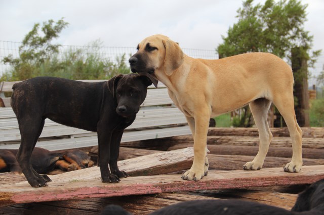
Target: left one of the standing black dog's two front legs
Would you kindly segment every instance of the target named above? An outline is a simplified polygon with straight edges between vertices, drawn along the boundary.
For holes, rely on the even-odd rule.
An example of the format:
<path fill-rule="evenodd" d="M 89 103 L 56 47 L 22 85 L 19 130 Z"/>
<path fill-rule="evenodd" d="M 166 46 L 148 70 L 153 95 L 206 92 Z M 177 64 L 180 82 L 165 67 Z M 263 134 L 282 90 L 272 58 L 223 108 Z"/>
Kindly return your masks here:
<path fill-rule="evenodd" d="M 108 129 L 98 129 L 98 166 L 100 167 L 101 181 L 104 183 L 117 183 L 119 178 L 110 173 L 108 162 L 110 160 L 111 132 Z"/>

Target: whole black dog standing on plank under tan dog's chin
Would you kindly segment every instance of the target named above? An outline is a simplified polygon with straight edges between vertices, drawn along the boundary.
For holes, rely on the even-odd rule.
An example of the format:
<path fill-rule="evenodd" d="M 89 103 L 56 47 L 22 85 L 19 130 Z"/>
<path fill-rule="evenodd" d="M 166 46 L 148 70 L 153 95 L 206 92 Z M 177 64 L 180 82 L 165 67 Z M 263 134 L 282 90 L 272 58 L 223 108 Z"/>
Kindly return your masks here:
<path fill-rule="evenodd" d="M 30 164 L 32 150 L 46 118 L 98 132 L 98 166 L 102 182 L 116 183 L 119 178 L 127 177 L 117 167 L 120 139 L 125 128 L 135 120 L 151 84 L 147 76 L 135 74 L 118 75 L 95 83 L 37 77 L 14 84 L 11 106 L 21 134 L 16 157 L 28 183 L 32 187 L 44 187 L 51 181 L 47 175 L 36 173 Z"/>

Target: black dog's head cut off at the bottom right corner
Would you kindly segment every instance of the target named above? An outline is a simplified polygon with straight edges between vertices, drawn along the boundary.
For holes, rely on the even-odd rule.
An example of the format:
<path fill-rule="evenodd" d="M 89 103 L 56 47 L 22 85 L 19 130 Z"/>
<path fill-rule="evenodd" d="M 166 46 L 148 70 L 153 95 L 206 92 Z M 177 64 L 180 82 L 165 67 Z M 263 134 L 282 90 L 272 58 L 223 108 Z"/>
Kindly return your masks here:
<path fill-rule="evenodd" d="M 307 211 L 315 207 L 318 210 L 324 210 L 324 179 L 313 183 L 301 192 L 292 211 Z"/>

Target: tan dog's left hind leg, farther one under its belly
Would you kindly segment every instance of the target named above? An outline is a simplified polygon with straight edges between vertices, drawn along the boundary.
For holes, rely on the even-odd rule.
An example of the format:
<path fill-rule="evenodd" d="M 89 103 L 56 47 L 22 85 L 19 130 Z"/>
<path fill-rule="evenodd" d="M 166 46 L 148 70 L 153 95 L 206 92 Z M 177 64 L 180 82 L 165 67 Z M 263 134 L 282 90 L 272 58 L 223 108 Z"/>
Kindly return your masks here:
<path fill-rule="evenodd" d="M 272 139 L 272 134 L 267 122 L 267 115 L 270 105 L 271 101 L 265 98 L 259 98 L 250 103 L 253 119 L 259 130 L 260 144 L 258 154 L 252 160 L 252 162 L 248 162 L 243 166 L 244 170 L 260 170 L 263 166 L 263 162 Z"/>

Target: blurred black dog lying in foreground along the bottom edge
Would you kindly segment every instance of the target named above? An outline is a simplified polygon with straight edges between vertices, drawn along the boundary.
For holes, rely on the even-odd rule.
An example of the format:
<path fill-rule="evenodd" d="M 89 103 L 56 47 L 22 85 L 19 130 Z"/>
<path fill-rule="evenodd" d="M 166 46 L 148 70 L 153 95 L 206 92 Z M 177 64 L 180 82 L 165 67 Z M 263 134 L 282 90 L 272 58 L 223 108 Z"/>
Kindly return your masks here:
<path fill-rule="evenodd" d="M 112 213 L 113 212 L 113 213 Z M 129 215 L 128 211 L 118 205 L 108 205 L 101 214 Z M 156 210 L 151 215 L 320 215 L 324 214 L 324 179 L 310 185 L 298 195 L 294 207 L 285 210 L 257 202 L 242 200 L 195 200 L 170 205 Z"/>

